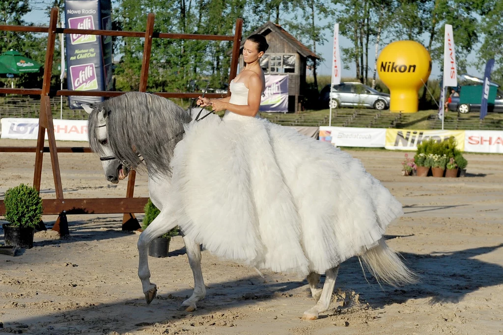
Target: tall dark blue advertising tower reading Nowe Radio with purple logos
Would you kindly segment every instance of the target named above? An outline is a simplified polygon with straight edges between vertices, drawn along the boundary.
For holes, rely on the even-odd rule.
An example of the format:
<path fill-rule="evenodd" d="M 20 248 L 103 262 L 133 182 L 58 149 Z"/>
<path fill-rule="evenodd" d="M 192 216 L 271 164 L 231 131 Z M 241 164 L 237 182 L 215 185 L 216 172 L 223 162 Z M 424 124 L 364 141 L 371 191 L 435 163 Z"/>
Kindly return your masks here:
<path fill-rule="evenodd" d="M 70 29 L 110 29 L 111 0 L 65 0 L 65 23 Z M 69 90 L 109 90 L 112 87 L 112 38 L 66 34 L 66 68 Z M 70 108 L 99 103 L 101 96 L 69 96 Z"/>

